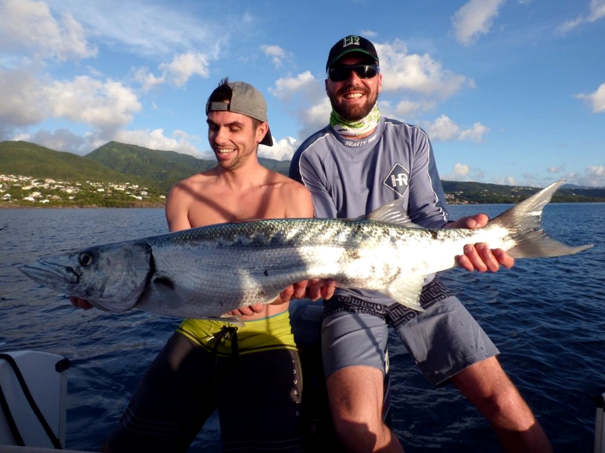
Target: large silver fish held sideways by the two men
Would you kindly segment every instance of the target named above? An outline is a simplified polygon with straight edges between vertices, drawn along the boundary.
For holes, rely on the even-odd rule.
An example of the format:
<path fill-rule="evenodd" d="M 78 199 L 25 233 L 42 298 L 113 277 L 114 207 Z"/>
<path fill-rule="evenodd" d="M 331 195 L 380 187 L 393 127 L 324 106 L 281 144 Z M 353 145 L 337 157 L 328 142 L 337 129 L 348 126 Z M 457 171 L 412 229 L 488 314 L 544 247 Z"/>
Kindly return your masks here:
<path fill-rule="evenodd" d="M 179 318 L 219 318 L 239 307 L 269 303 L 289 284 L 308 278 L 378 290 L 422 310 L 418 299 L 425 276 L 455 266 L 466 244 L 486 242 L 515 258 L 569 255 L 592 246 L 567 246 L 539 229 L 543 207 L 563 182 L 479 230 L 420 228 L 397 200 L 364 219 L 223 223 L 92 246 L 21 270 L 108 312 L 137 308 Z"/>

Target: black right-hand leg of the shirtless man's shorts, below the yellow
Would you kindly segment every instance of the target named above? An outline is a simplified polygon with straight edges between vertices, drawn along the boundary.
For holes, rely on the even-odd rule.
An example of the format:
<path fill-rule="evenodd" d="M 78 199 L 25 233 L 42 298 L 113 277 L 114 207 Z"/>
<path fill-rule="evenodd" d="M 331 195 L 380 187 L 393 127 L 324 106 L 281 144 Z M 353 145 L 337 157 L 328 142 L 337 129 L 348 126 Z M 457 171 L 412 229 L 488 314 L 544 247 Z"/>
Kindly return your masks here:
<path fill-rule="evenodd" d="M 221 358 L 216 387 L 224 452 L 304 451 L 302 376 L 295 350 Z"/>

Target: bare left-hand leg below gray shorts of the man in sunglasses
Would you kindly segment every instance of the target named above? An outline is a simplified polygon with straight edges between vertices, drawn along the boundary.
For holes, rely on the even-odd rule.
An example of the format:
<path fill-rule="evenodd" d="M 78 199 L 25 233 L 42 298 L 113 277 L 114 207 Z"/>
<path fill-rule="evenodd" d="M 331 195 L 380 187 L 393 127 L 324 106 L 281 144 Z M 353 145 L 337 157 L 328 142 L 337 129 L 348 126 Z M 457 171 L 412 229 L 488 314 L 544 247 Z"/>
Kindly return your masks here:
<path fill-rule="evenodd" d="M 330 411 L 336 433 L 350 452 L 403 452 L 382 421 L 384 377 L 378 368 L 353 366 L 327 377 Z"/>

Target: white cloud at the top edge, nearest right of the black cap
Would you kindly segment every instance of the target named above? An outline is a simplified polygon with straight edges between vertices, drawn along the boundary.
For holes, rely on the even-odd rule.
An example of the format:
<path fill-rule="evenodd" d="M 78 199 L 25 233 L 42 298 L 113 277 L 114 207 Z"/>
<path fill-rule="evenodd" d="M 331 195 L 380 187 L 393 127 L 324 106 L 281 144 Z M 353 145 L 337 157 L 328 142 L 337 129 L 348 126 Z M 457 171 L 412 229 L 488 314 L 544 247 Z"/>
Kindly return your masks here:
<path fill-rule="evenodd" d="M 458 42 L 471 45 L 480 34 L 487 34 L 498 8 L 506 0 L 470 0 L 454 13 L 452 25 Z"/>

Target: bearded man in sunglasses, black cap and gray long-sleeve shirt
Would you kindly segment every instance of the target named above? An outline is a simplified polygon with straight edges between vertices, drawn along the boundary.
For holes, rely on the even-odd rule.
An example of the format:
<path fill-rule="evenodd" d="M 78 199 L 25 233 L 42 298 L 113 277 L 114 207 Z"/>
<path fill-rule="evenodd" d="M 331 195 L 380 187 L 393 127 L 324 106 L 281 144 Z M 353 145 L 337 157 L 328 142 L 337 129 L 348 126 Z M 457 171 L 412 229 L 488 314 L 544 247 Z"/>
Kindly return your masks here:
<path fill-rule="evenodd" d="M 417 126 L 381 117 L 382 74 L 374 45 L 347 36 L 330 50 L 325 91 L 332 103 L 329 126 L 296 150 L 290 177 L 312 193 L 316 217 L 364 216 L 403 198 L 411 220 L 427 228 L 480 228 L 477 214 L 448 220 L 445 196 L 427 134 Z M 497 271 L 514 259 L 486 244 L 467 245 L 457 257 L 469 271 Z M 499 351 L 438 277 L 425 281 L 425 312 L 384 295 L 339 288 L 325 301 L 322 354 L 330 411 L 349 451 L 401 452 L 381 417 L 384 346 L 390 323 L 434 385 L 451 381 L 489 420 L 507 452 L 550 452 L 529 406 L 495 357 Z"/>

